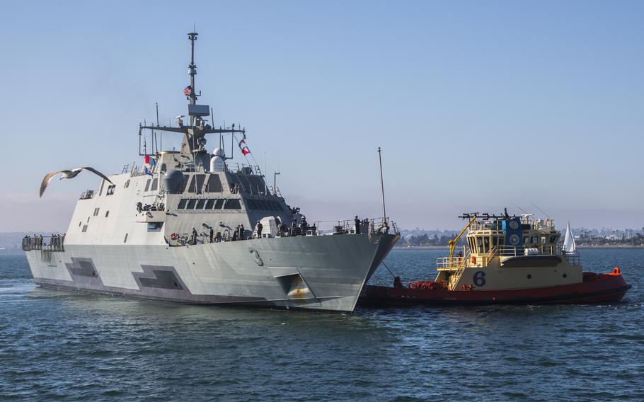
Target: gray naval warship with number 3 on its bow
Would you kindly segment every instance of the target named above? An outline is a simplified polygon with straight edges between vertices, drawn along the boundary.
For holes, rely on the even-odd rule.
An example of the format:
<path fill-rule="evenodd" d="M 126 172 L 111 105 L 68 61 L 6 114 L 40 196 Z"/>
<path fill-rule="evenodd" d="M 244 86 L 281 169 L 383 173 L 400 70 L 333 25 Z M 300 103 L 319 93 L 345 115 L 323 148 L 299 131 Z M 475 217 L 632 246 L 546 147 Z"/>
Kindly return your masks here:
<path fill-rule="evenodd" d="M 43 180 L 41 196 L 55 173 L 103 177 L 81 195 L 64 236 L 23 239 L 35 282 L 192 304 L 352 311 L 400 238 L 396 225 L 386 217 L 306 222 L 258 166 L 234 163 L 234 147 L 226 155 L 222 144 L 231 136 L 246 159 L 246 130 L 206 124 L 212 110 L 197 104 L 197 33 L 188 38 L 187 124 L 178 116 L 176 126 L 139 125 L 145 166 L 111 176 L 78 168 Z M 153 131 L 183 134 L 181 150 L 155 150 L 151 134 L 146 151 Z M 219 137 L 212 154 L 207 134 Z"/>

